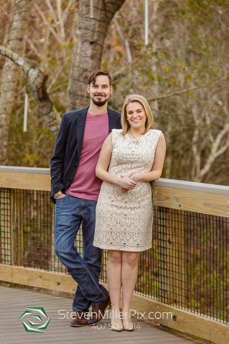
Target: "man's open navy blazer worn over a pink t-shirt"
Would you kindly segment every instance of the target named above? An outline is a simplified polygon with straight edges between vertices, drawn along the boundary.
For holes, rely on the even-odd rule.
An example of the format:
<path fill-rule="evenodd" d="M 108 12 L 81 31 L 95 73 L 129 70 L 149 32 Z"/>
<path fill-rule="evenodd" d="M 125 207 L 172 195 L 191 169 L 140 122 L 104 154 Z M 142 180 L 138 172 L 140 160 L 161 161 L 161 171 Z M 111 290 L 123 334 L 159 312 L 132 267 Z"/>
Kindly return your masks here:
<path fill-rule="evenodd" d="M 55 149 L 51 158 L 51 201 L 59 190 L 65 192 L 72 184 L 79 164 L 83 144 L 87 110 L 71 111 L 62 116 Z M 109 133 L 112 129 L 121 129 L 121 114 L 107 108 Z"/>

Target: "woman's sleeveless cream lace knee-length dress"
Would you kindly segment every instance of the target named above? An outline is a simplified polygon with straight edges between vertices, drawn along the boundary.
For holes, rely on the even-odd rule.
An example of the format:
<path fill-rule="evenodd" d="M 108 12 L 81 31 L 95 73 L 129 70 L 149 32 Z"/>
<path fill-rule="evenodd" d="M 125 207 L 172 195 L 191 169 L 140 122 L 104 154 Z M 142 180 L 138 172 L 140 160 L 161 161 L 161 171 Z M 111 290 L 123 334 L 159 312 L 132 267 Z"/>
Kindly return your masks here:
<path fill-rule="evenodd" d="M 121 178 L 130 172 L 150 172 L 160 130 L 149 130 L 139 142 L 112 130 L 108 172 Z M 96 207 L 93 245 L 102 249 L 145 251 L 152 247 L 153 204 L 150 182 L 139 181 L 121 195 L 121 187 L 103 181 Z"/>

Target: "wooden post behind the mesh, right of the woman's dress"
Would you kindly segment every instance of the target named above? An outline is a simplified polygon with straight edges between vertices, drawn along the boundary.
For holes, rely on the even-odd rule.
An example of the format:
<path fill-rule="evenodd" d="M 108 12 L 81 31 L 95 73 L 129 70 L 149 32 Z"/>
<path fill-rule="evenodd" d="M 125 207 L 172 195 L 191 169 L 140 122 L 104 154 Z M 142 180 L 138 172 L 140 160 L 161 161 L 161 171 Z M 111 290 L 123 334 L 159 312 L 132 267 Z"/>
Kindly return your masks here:
<path fill-rule="evenodd" d="M 184 308 L 184 213 L 165 207 L 158 207 L 158 213 L 159 301 Z"/>

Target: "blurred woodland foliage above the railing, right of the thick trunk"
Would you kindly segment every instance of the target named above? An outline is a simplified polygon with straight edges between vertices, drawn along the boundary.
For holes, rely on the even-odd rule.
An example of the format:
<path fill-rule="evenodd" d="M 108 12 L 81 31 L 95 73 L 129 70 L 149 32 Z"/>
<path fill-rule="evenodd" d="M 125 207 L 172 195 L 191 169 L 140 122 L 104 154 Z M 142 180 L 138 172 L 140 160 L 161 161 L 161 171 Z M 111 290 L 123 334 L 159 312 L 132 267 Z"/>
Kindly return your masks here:
<path fill-rule="evenodd" d="M 216 0 L 156 3 L 157 9 L 149 4 L 148 46 L 144 46 L 144 11 L 140 4 L 126 2 L 119 11 L 118 23 L 128 37 L 131 65 L 127 64 L 127 54 L 118 56 L 115 50 L 118 38 L 119 46 L 125 48 L 125 42 L 120 42 L 115 26 L 110 28 L 102 61 L 112 73 L 116 72 L 116 61 L 129 68 L 128 75 L 115 84 L 111 105 L 121 110 L 123 95 L 128 93 L 150 99 L 157 94 L 199 86 L 180 96 L 150 102 L 156 126 L 167 141 L 167 168 L 162 176 L 228 185 L 226 151 L 213 159 L 209 173 L 198 175 L 199 158 L 200 168 L 204 168 L 213 140 L 226 125 L 227 116 L 222 121 L 222 113 L 228 112 L 227 86 L 214 85 L 213 81 L 224 77 L 229 69 L 228 3 Z M 113 45 L 108 44 L 111 40 Z M 224 138 L 220 147 L 225 143 Z M 194 149 L 197 149 L 195 154 Z"/>

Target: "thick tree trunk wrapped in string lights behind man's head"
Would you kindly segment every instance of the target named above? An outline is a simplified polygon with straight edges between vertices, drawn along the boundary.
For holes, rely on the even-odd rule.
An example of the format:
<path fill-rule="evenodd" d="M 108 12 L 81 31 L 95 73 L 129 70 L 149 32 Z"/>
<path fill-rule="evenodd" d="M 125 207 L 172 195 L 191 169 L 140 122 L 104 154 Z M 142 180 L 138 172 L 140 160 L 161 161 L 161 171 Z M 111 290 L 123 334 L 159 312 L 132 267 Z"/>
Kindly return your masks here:
<path fill-rule="evenodd" d="M 125 0 L 94 0 L 90 18 L 90 0 L 79 3 L 76 42 L 73 51 L 67 93 L 67 110 L 81 109 L 89 104 L 87 77 L 101 67 L 103 43 L 115 13 Z"/>

